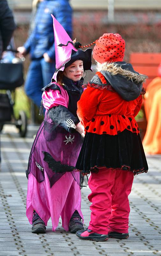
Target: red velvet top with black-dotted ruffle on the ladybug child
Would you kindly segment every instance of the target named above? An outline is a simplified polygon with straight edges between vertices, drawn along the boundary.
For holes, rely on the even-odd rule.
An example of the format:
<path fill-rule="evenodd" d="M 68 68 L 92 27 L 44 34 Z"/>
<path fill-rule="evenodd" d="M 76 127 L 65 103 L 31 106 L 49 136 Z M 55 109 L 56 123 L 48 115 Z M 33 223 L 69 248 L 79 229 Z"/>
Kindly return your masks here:
<path fill-rule="evenodd" d="M 118 93 L 87 86 L 77 103 L 77 115 L 85 131 L 116 135 L 127 129 L 139 133 L 135 116 L 142 105 L 142 95 L 136 100 L 123 100 Z"/>

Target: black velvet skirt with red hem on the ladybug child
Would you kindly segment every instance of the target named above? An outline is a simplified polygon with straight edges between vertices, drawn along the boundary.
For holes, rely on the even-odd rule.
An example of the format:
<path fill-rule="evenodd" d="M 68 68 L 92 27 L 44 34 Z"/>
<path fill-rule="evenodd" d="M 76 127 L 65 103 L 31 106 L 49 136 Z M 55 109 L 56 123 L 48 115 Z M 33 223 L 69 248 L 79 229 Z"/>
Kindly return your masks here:
<path fill-rule="evenodd" d="M 99 167 L 122 169 L 135 174 L 148 171 L 140 135 L 128 130 L 118 135 L 86 132 L 76 168 L 83 173 Z"/>

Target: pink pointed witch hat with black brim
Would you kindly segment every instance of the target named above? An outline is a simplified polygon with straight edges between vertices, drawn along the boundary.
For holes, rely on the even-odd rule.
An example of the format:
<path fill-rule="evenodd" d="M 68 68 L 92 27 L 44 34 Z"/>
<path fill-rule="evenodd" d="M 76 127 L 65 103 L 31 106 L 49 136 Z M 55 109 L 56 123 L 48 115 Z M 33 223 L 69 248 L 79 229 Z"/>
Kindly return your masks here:
<path fill-rule="evenodd" d="M 57 81 L 57 73 L 64 68 L 69 66 L 76 60 L 83 60 L 84 70 L 91 70 L 91 52 L 92 49 L 86 49 L 85 51 L 77 50 L 74 47 L 74 44 L 67 34 L 62 25 L 55 19 L 55 17 L 51 14 L 53 18 L 53 28 L 54 28 L 54 38 L 55 38 L 55 62 L 56 62 L 56 70 L 52 77 L 52 79 Z M 91 70 L 92 71 L 92 70 Z M 53 81 L 53 80 L 52 80 Z"/>

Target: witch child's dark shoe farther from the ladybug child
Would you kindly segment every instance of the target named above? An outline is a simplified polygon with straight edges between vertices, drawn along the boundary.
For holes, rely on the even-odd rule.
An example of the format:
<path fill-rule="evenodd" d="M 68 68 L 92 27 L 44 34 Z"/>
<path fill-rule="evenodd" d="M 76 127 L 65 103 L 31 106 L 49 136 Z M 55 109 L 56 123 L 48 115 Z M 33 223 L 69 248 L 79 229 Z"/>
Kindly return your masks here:
<path fill-rule="evenodd" d="M 35 211 L 33 212 L 33 225 L 31 232 L 34 234 L 46 233 L 45 223 Z"/>

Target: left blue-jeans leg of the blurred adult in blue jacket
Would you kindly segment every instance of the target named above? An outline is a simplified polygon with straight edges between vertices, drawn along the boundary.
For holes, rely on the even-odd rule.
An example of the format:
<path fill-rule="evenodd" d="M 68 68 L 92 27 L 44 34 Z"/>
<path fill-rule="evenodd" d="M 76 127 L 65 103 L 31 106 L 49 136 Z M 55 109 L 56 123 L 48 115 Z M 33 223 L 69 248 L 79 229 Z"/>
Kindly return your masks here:
<path fill-rule="evenodd" d="M 41 60 L 32 60 L 25 82 L 26 95 L 33 100 L 33 102 L 40 107 L 41 96 L 43 88 L 43 79 L 41 72 Z"/>

